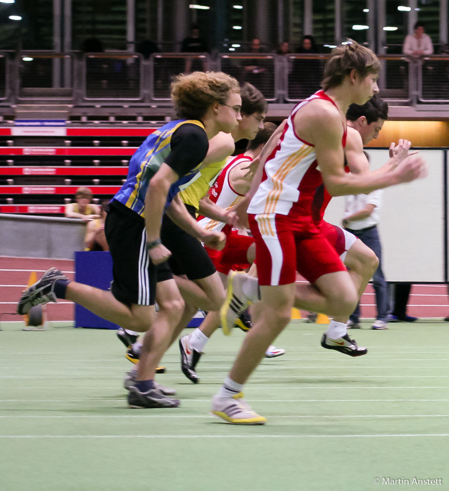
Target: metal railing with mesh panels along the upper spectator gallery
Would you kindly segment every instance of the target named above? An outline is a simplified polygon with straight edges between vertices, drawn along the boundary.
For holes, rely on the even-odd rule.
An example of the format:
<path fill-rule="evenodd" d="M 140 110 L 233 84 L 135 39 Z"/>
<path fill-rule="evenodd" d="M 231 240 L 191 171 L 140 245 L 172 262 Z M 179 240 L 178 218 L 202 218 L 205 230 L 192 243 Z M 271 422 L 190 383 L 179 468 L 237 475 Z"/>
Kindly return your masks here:
<path fill-rule="evenodd" d="M 1 52 L 0 105 L 51 100 L 87 106 L 170 101 L 179 73 L 222 70 L 254 84 L 269 102 L 297 102 L 320 88 L 329 54 Z M 381 96 L 403 104 L 449 103 L 449 56 L 380 55 Z"/>

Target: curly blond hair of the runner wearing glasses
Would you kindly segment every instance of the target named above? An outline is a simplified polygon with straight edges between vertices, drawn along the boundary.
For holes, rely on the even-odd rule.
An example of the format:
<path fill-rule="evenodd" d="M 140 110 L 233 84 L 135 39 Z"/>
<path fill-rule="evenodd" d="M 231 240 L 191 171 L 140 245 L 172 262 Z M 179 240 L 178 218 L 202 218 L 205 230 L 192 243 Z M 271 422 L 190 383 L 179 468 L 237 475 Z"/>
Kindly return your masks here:
<path fill-rule="evenodd" d="M 240 92 L 239 82 L 223 72 L 180 74 L 171 85 L 176 114 L 187 119 L 201 119 L 211 104 L 224 103 L 232 92 Z"/>

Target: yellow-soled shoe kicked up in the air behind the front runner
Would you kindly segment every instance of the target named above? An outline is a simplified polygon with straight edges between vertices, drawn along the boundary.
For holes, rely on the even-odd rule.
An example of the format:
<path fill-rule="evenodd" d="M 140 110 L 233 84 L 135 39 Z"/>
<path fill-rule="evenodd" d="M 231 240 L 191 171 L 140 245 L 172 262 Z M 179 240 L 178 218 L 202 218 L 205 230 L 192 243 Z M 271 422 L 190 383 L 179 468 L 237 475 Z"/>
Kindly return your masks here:
<path fill-rule="evenodd" d="M 226 336 L 229 336 L 235 322 L 250 304 L 250 300 L 243 292 L 243 283 L 246 278 L 246 273 L 231 271 L 228 274 L 226 300 L 220 309 L 221 327 Z"/>

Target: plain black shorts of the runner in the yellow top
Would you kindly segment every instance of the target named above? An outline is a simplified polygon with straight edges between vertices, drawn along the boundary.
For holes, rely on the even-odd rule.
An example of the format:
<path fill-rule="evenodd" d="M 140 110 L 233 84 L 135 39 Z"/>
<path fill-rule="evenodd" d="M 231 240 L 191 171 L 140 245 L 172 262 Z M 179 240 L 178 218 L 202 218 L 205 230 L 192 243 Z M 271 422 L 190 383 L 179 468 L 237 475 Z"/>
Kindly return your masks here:
<path fill-rule="evenodd" d="M 190 205 L 185 207 L 195 218 L 195 208 Z M 167 214 L 162 218 L 160 238 L 172 253 L 169 265 L 174 275 L 185 275 L 190 280 L 199 280 L 217 271 L 201 242 L 179 228 Z"/>

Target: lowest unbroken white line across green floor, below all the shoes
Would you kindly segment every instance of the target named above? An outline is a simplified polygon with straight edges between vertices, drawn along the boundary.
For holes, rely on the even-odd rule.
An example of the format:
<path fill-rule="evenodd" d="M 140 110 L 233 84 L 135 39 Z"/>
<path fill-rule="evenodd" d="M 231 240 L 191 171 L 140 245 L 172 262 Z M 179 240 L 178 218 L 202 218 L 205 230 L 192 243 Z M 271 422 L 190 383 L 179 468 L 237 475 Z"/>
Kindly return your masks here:
<path fill-rule="evenodd" d="M 449 433 L 387 433 L 373 435 L 0 435 L 0 438 L 396 438 L 448 437 Z"/>

